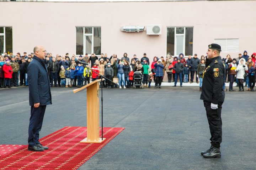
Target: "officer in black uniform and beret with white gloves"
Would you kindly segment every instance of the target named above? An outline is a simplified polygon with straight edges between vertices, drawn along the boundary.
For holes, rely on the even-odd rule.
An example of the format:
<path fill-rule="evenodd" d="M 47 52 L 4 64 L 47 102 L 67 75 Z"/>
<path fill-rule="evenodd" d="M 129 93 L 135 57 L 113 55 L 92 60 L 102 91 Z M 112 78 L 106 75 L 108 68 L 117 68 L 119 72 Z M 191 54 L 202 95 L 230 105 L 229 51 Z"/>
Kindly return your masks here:
<path fill-rule="evenodd" d="M 208 46 L 206 69 L 203 73 L 202 94 L 206 115 L 210 128 L 211 147 L 201 152 L 204 158 L 220 158 L 220 143 L 222 142 L 221 110 L 225 98 L 223 85 L 226 74 L 225 66 L 220 58 L 221 47 L 218 44 Z"/>

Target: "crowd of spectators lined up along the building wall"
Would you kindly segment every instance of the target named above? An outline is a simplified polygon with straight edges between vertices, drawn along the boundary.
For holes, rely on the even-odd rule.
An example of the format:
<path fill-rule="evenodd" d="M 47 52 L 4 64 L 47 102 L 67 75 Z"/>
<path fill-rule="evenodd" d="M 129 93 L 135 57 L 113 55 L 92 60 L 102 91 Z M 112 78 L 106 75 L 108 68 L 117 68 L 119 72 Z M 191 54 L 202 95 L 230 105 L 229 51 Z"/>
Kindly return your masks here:
<path fill-rule="evenodd" d="M 226 69 L 225 81 L 229 82 L 229 91 L 235 91 L 234 81 L 239 91 L 244 91 L 243 82 L 246 82 L 247 90 L 254 91 L 255 55 L 256 53 L 253 53 L 248 56 L 247 51 L 244 51 L 243 55 L 239 54 L 237 58 L 232 59 L 230 55 L 222 58 Z M 4 56 L 0 55 L 0 88 L 28 86 L 27 67 L 33 60 L 33 56 L 34 53 L 27 55 L 26 52 L 23 56 L 20 53 L 8 55 L 6 52 Z M 155 88 L 161 88 L 165 75 L 167 75 L 168 83 L 174 82 L 174 87 L 179 78 L 182 87 L 182 83 L 193 83 L 194 76 L 196 76 L 195 80 L 199 83 L 200 91 L 207 62 L 205 56 L 202 55 L 199 59 L 197 54 L 193 57 L 188 56 L 186 60 L 182 53 L 178 56 L 172 56 L 171 53 L 167 53 L 166 57 L 155 56 L 151 64 L 146 53 L 140 60 L 136 55 L 130 59 L 127 53 L 124 53 L 120 59 L 116 54 L 108 57 L 107 54 L 102 53 L 100 57 L 97 57 L 95 53 L 92 53 L 89 57 L 86 53 L 85 56 L 80 55 L 76 58 L 75 55 L 69 57 L 68 53 L 65 56 L 57 54 L 56 57 L 53 57 L 52 53 L 47 53 L 46 60 L 51 87 L 82 87 L 91 81 L 100 79 L 100 75 L 104 75 L 107 79 L 101 83 L 101 86 L 126 89 L 134 85 L 134 72 L 141 72 L 143 87 L 150 88 L 151 82 L 154 81 Z M 81 64 L 78 61 L 88 64 Z M 118 83 L 118 86 L 115 83 Z M 225 84 L 223 88 L 225 89 Z"/>

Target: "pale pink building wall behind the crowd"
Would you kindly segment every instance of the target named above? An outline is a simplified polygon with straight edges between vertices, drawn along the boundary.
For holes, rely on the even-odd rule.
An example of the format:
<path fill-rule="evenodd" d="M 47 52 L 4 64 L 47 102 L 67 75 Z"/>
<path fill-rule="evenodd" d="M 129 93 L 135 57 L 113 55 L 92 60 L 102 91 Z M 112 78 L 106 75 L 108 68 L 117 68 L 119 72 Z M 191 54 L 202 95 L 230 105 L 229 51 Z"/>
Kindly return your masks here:
<path fill-rule="evenodd" d="M 166 27 L 194 27 L 193 53 L 206 55 L 214 39 L 239 39 L 239 52 L 256 52 L 256 1 L 0 2 L 0 26 L 13 29 L 13 52 L 44 45 L 53 56 L 75 54 L 75 27 L 100 26 L 101 52 L 118 58 L 166 55 Z M 162 34 L 121 32 L 121 26 L 161 24 Z M 221 53 L 226 56 L 227 53 Z"/>

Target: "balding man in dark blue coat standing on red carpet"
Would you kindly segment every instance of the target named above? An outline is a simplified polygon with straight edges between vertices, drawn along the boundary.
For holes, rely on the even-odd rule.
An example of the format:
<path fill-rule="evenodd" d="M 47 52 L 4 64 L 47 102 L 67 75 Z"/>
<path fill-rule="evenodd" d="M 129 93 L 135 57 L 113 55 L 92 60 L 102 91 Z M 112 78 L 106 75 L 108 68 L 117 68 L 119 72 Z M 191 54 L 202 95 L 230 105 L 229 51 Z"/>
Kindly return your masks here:
<path fill-rule="evenodd" d="M 44 151 L 48 149 L 38 141 L 46 105 L 52 104 L 45 57 L 46 50 L 44 47 L 35 46 L 33 60 L 28 65 L 29 103 L 31 106 L 30 124 L 28 126 L 28 151 Z"/>

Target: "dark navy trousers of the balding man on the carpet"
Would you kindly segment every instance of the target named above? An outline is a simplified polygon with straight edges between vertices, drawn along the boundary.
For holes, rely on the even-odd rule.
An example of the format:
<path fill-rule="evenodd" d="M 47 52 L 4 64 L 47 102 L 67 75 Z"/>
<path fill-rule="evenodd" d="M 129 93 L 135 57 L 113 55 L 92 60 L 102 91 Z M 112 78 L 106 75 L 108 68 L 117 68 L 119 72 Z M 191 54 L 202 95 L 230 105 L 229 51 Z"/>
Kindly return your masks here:
<path fill-rule="evenodd" d="M 40 144 L 38 141 L 39 131 L 42 128 L 45 110 L 46 106 L 39 106 L 38 108 L 31 106 L 30 124 L 28 126 L 28 146 L 36 146 Z"/>

